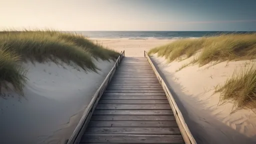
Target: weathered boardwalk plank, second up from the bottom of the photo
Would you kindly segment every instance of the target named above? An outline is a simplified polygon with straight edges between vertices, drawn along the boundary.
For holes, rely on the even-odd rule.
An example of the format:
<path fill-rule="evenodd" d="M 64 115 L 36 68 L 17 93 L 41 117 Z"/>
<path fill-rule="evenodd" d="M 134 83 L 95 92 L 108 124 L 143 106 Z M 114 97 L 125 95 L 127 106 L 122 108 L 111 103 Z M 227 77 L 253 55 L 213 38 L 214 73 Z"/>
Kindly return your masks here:
<path fill-rule="evenodd" d="M 180 134 L 178 127 L 88 127 L 85 133 Z"/>

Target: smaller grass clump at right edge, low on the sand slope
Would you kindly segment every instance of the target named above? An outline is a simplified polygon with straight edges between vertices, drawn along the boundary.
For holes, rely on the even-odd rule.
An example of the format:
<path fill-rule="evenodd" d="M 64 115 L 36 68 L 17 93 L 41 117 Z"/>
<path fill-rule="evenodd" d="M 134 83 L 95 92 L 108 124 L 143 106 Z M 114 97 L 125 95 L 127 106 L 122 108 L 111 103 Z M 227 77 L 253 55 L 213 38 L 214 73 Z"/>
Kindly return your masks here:
<path fill-rule="evenodd" d="M 223 85 L 217 85 L 215 92 L 220 92 L 220 101 L 233 101 L 236 108 L 256 108 L 256 67 L 234 71 Z"/>

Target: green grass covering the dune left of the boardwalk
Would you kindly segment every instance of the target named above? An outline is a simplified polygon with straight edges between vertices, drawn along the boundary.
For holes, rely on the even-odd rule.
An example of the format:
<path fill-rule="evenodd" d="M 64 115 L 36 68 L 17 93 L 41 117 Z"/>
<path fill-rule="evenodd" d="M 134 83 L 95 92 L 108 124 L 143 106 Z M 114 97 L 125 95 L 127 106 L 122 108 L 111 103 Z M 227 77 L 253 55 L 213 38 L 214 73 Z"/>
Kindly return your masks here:
<path fill-rule="evenodd" d="M 74 62 L 86 71 L 99 69 L 94 59 L 115 59 L 118 52 L 93 44 L 82 35 L 54 30 L 1 31 L 0 32 L 0 84 L 11 83 L 22 91 L 26 77 L 21 60 L 44 62 L 60 59 Z"/>

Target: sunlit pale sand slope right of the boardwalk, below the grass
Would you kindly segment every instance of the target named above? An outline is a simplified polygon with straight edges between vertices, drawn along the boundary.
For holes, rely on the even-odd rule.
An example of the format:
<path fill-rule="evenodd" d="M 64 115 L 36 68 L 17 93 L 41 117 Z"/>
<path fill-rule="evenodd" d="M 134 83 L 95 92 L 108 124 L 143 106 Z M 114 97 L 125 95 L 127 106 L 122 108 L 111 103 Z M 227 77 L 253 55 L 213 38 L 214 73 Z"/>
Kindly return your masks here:
<path fill-rule="evenodd" d="M 249 109 L 232 112 L 233 103 L 217 105 L 219 93 L 213 94 L 214 86 L 222 84 L 235 69 L 244 70 L 244 66 L 250 66 L 253 61 L 250 64 L 249 60 L 221 62 L 201 67 L 195 64 L 176 71 L 192 57 L 169 64 L 163 57 L 154 55 L 152 59 L 197 143 L 256 143 L 256 114 Z"/>

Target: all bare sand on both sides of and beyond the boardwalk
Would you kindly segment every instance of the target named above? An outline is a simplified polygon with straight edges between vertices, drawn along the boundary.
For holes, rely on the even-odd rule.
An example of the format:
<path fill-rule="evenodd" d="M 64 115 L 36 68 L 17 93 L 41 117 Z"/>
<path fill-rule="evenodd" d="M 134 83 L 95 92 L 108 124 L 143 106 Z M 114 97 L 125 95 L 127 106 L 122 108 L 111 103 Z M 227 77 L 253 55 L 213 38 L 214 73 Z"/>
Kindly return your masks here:
<path fill-rule="evenodd" d="M 125 50 L 125 56 L 128 57 L 143 57 L 144 50 L 149 51 L 176 40 L 120 37 L 88 39 L 117 52 Z M 100 56 L 97 51 L 93 54 Z M 219 103 L 219 93 L 214 93 L 214 86 L 223 83 L 234 70 L 250 67 L 254 60 L 222 61 L 201 67 L 196 64 L 183 66 L 193 58 L 191 56 L 168 63 L 164 57 L 156 54 L 151 56 L 196 142 L 255 143 L 256 114 L 251 109 L 233 111 L 233 103 Z M 63 61 L 21 62 L 27 69 L 28 77 L 23 88 L 24 97 L 6 90 L 0 99 L 0 132 L 3 133 L 0 142 L 65 142 L 114 62 L 94 58 L 92 61 L 98 70 L 85 70 L 75 63 Z M 15 138 L 10 136 L 13 132 L 17 135 Z"/>

